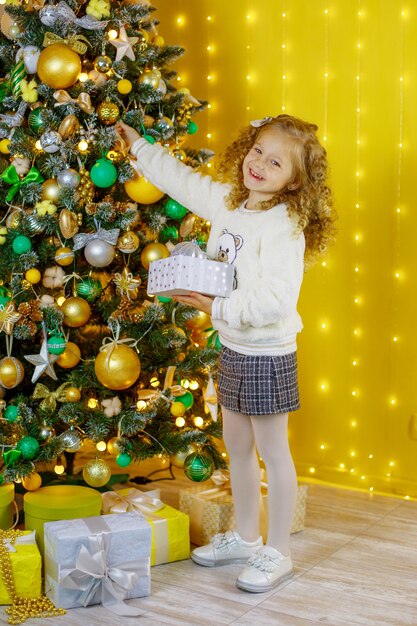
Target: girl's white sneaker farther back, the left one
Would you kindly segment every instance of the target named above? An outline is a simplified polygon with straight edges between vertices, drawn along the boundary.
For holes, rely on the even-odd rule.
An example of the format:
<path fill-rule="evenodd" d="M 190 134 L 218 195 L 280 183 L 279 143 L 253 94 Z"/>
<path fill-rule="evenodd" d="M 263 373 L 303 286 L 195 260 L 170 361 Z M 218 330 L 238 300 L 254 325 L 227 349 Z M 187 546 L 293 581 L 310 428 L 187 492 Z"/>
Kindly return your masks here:
<path fill-rule="evenodd" d="M 235 530 L 214 535 L 211 542 L 191 552 L 194 563 L 205 567 L 217 567 L 230 563 L 246 563 L 262 546 L 262 537 L 256 541 L 243 541 Z"/>

